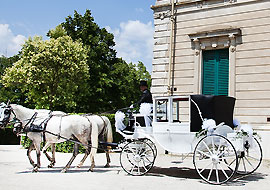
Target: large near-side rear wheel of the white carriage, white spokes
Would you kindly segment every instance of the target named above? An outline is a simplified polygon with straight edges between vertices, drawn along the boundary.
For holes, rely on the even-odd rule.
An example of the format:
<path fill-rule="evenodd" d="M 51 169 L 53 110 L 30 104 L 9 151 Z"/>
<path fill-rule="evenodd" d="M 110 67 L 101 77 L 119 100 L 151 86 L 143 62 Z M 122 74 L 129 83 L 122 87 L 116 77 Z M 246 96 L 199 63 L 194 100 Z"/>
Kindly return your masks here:
<path fill-rule="evenodd" d="M 238 167 L 232 143 L 220 135 L 206 136 L 195 147 L 193 164 L 200 177 L 211 184 L 229 181 Z"/>

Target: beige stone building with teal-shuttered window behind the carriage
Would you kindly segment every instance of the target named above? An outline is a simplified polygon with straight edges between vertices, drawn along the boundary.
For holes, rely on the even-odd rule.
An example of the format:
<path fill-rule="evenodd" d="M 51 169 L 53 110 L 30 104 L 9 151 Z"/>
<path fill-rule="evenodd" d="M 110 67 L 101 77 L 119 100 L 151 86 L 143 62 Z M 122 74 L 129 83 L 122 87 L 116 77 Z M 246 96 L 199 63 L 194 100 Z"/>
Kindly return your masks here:
<path fill-rule="evenodd" d="M 270 1 L 157 0 L 154 96 L 235 97 L 235 118 L 270 137 Z M 264 148 L 270 158 L 270 149 Z"/>

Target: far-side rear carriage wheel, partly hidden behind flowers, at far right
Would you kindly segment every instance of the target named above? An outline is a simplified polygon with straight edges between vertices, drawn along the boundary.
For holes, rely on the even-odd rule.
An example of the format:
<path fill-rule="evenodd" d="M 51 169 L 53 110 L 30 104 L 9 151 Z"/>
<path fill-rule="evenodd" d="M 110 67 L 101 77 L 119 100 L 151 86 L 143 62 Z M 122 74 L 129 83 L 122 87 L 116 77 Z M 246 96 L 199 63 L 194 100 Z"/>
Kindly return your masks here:
<path fill-rule="evenodd" d="M 236 173 L 248 175 L 253 173 L 262 162 L 262 148 L 256 138 L 244 143 L 244 151 L 238 153 L 238 170 Z"/>

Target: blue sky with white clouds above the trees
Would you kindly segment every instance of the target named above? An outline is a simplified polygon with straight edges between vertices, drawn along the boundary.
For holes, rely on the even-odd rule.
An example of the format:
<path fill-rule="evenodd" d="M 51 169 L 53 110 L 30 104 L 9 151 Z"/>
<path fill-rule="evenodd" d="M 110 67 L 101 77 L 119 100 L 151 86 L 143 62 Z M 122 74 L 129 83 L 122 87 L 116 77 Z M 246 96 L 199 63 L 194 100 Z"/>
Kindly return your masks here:
<path fill-rule="evenodd" d="M 42 36 L 74 10 L 91 10 L 95 22 L 115 36 L 117 56 L 142 61 L 152 71 L 155 0 L 0 0 L 0 56 L 18 53 L 29 37 Z"/>

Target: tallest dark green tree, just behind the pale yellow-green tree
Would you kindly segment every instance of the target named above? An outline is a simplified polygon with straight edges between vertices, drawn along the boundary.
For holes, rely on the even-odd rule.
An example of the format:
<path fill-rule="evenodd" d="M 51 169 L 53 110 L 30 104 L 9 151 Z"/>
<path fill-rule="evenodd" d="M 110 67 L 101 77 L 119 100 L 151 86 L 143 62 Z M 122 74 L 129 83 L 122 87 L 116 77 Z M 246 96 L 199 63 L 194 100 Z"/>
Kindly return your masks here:
<path fill-rule="evenodd" d="M 105 28 L 100 28 L 86 10 L 82 16 L 74 11 L 74 17 L 68 16 L 62 23 L 73 40 L 81 40 L 87 49 L 89 66 L 88 91 L 80 93 L 80 106 L 78 111 L 100 112 L 111 109 L 109 88 L 112 87 L 113 78 L 110 72 L 117 61 L 113 35 Z"/>

